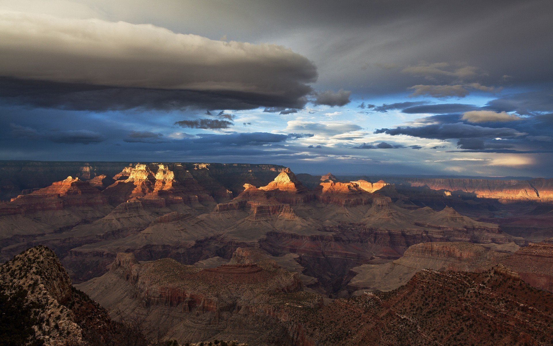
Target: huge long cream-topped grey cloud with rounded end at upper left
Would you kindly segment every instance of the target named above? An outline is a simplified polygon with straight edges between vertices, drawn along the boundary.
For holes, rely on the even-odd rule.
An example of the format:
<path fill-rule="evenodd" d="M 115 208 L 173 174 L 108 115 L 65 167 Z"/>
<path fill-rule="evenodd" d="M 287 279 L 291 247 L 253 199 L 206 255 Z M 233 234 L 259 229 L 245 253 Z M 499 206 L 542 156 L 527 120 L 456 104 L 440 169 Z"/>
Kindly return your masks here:
<path fill-rule="evenodd" d="M 179 109 L 209 105 L 209 100 L 232 106 L 220 109 L 302 107 L 312 91 L 308 84 L 317 79 L 309 59 L 279 45 L 222 42 L 152 24 L 33 13 L 0 12 L 0 55 L 0 76 L 8 78 L 4 82 L 41 86 L 39 95 L 59 94 L 50 106 L 67 109 L 77 98 L 86 98 L 85 91 L 107 96 L 105 109 L 159 104 Z M 50 83 L 53 90 L 48 90 Z M 71 85 L 77 90 L 71 92 Z M 119 92 L 131 96 L 131 103 L 122 102 Z"/>

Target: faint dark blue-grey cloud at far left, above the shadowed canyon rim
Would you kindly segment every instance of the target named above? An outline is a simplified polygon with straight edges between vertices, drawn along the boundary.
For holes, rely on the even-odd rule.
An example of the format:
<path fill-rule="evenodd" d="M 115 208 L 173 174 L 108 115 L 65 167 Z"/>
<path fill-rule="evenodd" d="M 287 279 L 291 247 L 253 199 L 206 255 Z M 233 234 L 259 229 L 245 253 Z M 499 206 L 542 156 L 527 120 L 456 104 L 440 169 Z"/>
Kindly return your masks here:
<path fill-rule="evenodd" d="M 29 140 L 48 140 L 54 143 L 100 143 L 105 140 L 103 136 L 89 130 L 66 130 L 66 131 L 38 131 L 31 127 L 24 127 L 16 124 L 10 124 L 12 136 L 18 138 L 27 138 Z"/>

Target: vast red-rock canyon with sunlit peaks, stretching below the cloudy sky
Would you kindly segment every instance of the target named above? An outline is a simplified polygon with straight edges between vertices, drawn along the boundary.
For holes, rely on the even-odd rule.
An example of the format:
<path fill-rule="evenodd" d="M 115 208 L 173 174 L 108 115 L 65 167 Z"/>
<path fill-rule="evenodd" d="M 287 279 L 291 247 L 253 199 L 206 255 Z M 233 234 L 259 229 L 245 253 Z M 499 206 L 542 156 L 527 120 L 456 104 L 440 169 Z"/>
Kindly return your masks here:
<path fill-rule="evenodd" d="M 137 318 L 144 342 L 177 344 L 553 337 L 550 179 L 218 163 L 13 161 L 0 172 L 2 287 L 33 287 L 45 344 L 124 344 Z"/>

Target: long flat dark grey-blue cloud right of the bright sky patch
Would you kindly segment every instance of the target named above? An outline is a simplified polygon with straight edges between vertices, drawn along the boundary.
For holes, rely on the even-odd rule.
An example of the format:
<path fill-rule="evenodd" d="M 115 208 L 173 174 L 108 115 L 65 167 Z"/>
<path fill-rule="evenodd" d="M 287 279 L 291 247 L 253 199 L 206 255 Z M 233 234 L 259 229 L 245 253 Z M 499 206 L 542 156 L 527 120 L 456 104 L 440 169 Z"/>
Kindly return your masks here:
<path fill-rule="evenodd" d="M 437 140 L 447 140 L 450 138 L 514 138 L 528 133 L 519 132 L 513 128 L 507 127 L 482 127 L 468 125 L 462 122 L 445 123 L 426 126 L 405 126 L 396 128 L 380 128 L 374 133 L 387 133 L 388 135 L 408 135 L 421 138 L 434 138 Z"/>

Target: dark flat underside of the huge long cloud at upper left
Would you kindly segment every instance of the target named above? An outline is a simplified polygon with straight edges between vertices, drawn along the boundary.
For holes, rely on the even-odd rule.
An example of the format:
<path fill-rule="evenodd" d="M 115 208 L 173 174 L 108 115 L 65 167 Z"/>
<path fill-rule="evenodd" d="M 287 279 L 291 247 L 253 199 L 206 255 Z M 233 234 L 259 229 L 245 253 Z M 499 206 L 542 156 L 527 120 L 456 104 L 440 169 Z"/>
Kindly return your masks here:
<path fill-rule="evenodd" d="M 204 92 L 94 86 L 0 77 L 0 99 L 4 104 L 28 105 L 77 111 L 247 110 L 262 106 L 303 107 L 303 97 L 264 96 L 243 92 Z"/>

